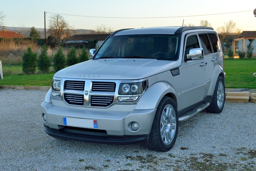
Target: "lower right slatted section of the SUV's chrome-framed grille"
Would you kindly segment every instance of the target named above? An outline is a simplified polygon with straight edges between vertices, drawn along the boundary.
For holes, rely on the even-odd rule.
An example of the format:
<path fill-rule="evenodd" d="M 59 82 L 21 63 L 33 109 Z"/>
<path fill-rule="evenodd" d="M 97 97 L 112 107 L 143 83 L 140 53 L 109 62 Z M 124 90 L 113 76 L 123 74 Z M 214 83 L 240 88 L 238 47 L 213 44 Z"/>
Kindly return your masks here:
<path fill-rule="evenodd" d="M 114 96 L 91 96 L 91 106 L 107 107 L 114 101 Z"/>

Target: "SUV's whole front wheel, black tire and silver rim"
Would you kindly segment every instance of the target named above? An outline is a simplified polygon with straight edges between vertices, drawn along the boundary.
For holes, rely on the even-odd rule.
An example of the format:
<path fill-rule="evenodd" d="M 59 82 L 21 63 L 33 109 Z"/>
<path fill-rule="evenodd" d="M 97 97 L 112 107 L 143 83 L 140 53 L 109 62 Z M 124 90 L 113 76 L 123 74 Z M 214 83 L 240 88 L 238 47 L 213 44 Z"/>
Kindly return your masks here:
<path fill-rule="evenodd" d="M 176 141 L 178 124 L 178 112 L 174 100 L 163 97 L 157 107 L 149 139 L 146 142 L 148 148 L 159 152 L 169 151 Z"/>

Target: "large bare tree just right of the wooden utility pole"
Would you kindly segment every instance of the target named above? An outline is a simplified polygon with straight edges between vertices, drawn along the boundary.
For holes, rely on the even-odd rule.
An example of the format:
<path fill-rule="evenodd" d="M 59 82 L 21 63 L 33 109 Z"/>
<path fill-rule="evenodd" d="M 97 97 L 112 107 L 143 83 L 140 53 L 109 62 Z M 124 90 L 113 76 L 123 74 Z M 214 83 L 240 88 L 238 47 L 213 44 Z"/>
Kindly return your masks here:
<path fill-rule="evenodd" d="M 70 36 L 70 31 L 73 30 L 73 27 L 59 14 L 50 17 L 48 28 L 48 33 L 55 38 L 58 46 L 61 41 Z"/>

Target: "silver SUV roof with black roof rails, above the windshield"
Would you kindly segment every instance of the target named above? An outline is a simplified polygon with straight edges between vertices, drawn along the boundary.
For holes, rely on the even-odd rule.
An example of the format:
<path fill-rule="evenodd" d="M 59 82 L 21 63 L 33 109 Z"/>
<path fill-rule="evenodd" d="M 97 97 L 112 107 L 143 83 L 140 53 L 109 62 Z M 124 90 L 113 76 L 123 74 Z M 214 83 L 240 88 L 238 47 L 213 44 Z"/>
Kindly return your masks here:
<path fill-rule="evenodd" d="M 122 29 L 117 30 L 111 35 L 127 35 L 127 34 L 181 34 L 182 32 L 188 30 L 196 30 L 196 29 L 210 29 L 213 30 L 212 27 L 205 26 L 165 26 L 165 27 L 147 27 L 147 28 L 135 28 L 135 29 Z"/>

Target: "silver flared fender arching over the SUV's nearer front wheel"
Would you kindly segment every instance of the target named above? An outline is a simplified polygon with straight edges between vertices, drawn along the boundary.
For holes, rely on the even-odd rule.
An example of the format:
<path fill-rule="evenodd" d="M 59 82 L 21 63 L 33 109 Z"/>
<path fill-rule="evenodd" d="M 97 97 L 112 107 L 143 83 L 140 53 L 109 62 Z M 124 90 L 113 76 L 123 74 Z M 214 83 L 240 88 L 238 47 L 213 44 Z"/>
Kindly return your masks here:
<path fill-rule="evenodd" d="M 177 94 L 171 85 L 165 82 L 155 83 L 142 95 L 135 109 L 141 110 L 157 108 L 163 96 L 168 93 Z"/>

